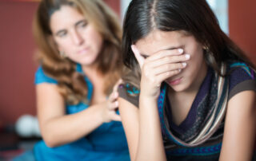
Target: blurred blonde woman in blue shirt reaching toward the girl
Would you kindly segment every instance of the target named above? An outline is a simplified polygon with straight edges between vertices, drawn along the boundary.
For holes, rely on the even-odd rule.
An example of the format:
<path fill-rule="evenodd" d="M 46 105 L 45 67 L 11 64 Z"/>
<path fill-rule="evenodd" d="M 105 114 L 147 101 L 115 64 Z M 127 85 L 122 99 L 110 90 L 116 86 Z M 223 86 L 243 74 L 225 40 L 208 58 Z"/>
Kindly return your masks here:
<path fill-rule="evenodd" d="M 42 0 L 34 20 L 36 160 L 129 160 L 117 113 L 121 29 L 100 0 Z"/>

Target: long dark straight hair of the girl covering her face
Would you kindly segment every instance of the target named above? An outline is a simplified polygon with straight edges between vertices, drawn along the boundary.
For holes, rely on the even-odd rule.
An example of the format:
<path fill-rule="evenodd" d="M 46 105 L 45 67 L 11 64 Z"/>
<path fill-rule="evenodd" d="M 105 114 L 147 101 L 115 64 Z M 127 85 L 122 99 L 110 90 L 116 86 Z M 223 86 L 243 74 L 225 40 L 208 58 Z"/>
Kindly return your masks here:
<path fill-rule="evenodd" d="M 221 74 L 220 64 L 230 60 L 244 61 L 254 67 L 242 50 L 220 29 L 206 0 L 133 0 L 126 11 L 122 36 L 122 60 L 132 71 L 139 68 L 130 45 L 154 29 L 184 30 L 192 34 L 206 47 L 206 63 L 218 74 Z"/>

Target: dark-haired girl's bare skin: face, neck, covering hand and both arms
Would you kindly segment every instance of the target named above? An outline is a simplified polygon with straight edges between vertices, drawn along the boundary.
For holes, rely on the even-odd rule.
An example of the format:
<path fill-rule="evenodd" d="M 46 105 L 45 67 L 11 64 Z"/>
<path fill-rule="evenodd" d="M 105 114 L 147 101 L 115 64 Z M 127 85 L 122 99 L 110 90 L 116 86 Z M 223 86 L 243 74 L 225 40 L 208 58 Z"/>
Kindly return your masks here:
<path fill-rule="evenodd" d="M 206 77 L 202 45 L 183 31 L 154 30 L 131 49 L 142 69 L 139 108 L 118 98 L 130 158 L 166 160 L 157 107 L 159 87 L 162 81 L 169 84 L 173 121 L 181 124 Z M 247 104 L 242 104 L 245 99 Z M 239 92 L 229 100 L 220 160 L 250 160 L 255 135 L 254 107 L 255 93 L 252 91 Z"/>

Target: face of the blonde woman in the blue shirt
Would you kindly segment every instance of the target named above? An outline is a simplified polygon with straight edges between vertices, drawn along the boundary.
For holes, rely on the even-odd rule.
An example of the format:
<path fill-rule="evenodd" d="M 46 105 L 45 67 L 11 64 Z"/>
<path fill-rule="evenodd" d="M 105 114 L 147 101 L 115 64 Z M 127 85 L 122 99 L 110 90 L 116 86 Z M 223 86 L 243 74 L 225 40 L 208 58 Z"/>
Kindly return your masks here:
<path fill-rule="evenodd" d="M 81 65 L 93 65 L 102 48 L 102 36 L 82 14 L 62 6 L 52 14 L 50 29 L 59 51 Z"/>

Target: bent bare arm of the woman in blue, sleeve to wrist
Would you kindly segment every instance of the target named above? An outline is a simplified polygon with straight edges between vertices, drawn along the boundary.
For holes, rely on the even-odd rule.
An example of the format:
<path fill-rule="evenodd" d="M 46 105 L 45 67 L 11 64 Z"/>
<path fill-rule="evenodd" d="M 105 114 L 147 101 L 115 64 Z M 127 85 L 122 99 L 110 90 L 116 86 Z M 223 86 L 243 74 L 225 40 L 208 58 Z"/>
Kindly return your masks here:
<path fill-rule="evenodd" d="M 106 104 L 95 104 L 82 112 L 66 115 L 65 101 L 56 84 L 36 85 L 36 95 L 40 130 L 49 147 L 80 139 L 106 121 Z"/>

